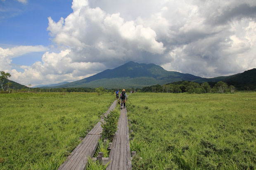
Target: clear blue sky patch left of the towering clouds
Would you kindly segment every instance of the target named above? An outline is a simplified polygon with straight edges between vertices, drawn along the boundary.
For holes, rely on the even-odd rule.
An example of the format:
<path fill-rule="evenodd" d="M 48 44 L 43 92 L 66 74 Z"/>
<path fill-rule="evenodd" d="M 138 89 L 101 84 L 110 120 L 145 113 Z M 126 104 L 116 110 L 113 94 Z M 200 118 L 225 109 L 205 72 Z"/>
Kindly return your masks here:
<path fill-rule="evenodd" d="M 65 18 L 72 12 L 71 5 L 72 0 L 28 0 L 24 3 L 0 0 L 0 46 L 49 46 L 52 42 L 47 31 L 47 17 L 51 16 L 56 21 Z M 32 65 L 41 61 L 43 54 L 34 52 L 21 55 L 12 59 L 12 64 Z"/>

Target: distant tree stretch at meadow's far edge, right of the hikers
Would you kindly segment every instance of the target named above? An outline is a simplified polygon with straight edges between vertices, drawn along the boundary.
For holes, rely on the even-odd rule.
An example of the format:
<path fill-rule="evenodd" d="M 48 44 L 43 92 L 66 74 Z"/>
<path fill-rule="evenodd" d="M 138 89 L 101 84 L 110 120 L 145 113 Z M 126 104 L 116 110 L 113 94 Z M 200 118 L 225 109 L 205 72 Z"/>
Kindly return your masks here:
<path fill-rule="evenodd" d="M 213 83 L 211 83 L 213 84 Z M 141 90 L 137 90 L 141 92 L 165 92 L 165 93 L 234 93 L 235 86 L 228 86 L 227 83 L 219 81 L 215 83 L 213 87 L 209 85 L 209 83 L 195 83 L 189 81 L 179 81 L 175 83 L 169 83 L 165 85 L 152 85 L 149 87 L 143 87 Z"/>

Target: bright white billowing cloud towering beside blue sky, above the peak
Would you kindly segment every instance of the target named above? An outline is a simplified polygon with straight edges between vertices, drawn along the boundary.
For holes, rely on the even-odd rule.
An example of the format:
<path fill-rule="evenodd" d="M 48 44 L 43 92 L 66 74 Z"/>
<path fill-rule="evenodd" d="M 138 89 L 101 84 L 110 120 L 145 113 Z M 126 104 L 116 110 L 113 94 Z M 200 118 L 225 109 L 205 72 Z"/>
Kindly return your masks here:
<path fill-rule="evenodd" d="M 130 48 L 153 54 L 161 54 L 165 51 L 163 43 L 156 41 L 154 30 L 136 24 L 134 21 L 125 22 L 120 13 L 107 14 L 100 8 L 88 7 L 85 2 L 79 5 L 78 1 L 73 1 L 72 9 L 74 12 L 65 20 L 61 18 L 55 23 L 52 18 L 48 18 L 49 27 L 47 30 L 50 31 L 50 35 L 54 36 L 54 41 L 59 45 L 73 48 L 81 47 L 84 51 L 87 51 L 88 48 L 94 49 L 98 51 L 99 55 L 95 54 L 97 57 L 104 57 L 101 54 L 106 55 L 106 49 L 101 48 L 99 44 L 104 44 L 104 47 L 108 48 L 107 51 L 125 55 L 127 55 L 126 51 L 131 50 Z M 123 44 L 128 46 L 122 46 Z M 113 53 L 109 54 L 115 55 Z"/>

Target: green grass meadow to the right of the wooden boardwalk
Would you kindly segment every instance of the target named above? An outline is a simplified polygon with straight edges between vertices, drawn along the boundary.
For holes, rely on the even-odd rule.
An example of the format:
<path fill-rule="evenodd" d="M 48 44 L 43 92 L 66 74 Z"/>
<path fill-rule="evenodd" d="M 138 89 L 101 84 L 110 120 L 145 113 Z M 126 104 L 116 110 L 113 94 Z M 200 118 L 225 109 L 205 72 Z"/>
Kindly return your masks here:
<path fill-rule="evenodd" d="M 256 93 L 135 93 L 126 106 L 133 170 L 256 169 Z"/>

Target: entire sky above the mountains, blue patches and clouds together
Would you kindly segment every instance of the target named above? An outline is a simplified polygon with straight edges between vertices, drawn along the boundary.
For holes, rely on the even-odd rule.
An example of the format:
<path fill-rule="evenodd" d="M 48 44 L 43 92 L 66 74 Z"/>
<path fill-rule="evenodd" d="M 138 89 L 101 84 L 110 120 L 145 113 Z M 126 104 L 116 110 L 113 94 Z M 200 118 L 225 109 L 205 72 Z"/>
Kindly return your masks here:
<path fill-rule="evenodd" d="M 0 70 L 28 85 L 128 61 L 201 77 L 256 67 L 256 1 L 0 0 Z"/>

